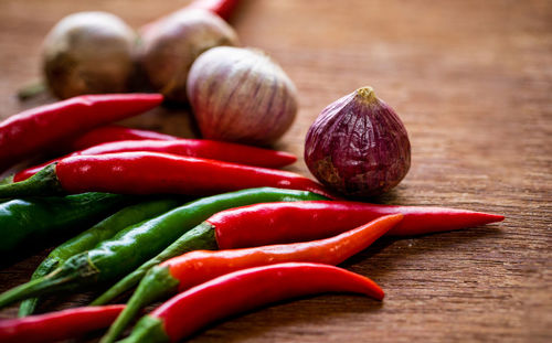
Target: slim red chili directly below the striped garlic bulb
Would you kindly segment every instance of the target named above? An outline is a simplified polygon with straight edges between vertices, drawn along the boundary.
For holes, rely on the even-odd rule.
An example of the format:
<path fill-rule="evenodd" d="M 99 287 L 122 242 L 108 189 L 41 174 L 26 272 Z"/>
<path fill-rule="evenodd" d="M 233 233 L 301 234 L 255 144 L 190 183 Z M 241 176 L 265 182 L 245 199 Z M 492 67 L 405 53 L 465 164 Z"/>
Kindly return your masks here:
<path fill-rule="evenodd" d="M 82 151 L 73 152 L 66 157 L 22 170 L 13 176 L 13 182 L 26 180 L 41 171 L 44 167 L 68 157 L 131 151 L 163 152 L 265 168 L 284 167 L 294 163 L 297 160 L 295 156 L 284 151 L 261 149 L 244 144 L 220 142 L 206 139 L 124 140 L 95 146 Z"/>

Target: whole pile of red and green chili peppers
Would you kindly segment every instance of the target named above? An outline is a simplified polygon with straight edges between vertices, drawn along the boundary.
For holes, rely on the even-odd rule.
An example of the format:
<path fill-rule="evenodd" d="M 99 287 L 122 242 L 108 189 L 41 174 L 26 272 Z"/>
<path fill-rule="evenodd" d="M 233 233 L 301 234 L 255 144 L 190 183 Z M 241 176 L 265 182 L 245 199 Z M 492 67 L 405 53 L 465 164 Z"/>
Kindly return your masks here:
<path fill-rule="evenodd" d="M 189 8 L 227 19 L 237 2 Z M 319 183 L 275 169 L 296 161 L 287 152 L 113 125 L 161 101 L 158 94 L 79 96 L 0 122 L 0 171 L 63 154 L 0 183 L 0 254 L 68 238 L 29 282 L 0 294 L 0 308 L 23 300 L 24 317 L 0 321 L 1 342 L 64 340 L 110 324 L 102 343 L 114 342 L 144 307 L 171 296 L 123 342 L 177 342 L 231 314 L 306 294 L 382 300 L 375 282 L 336 266 L 383 235 L 503 219 L 336 200 Z M 30 315 L 43 296 L 98 285 L 107 290 L 91 307 Z M 126 307 L 105 306 L 136 286 Z"/>

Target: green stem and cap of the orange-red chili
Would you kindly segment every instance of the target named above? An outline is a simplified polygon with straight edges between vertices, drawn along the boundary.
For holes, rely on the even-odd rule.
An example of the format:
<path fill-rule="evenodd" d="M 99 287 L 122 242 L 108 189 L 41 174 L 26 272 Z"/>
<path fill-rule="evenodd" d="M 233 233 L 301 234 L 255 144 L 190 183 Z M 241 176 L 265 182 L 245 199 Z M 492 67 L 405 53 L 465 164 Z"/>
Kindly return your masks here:
<path fill-rule="evenodd" d="M 136 317 L 145 306 L 174 293 L 178 289 L 179 280 L 173 278 L 167 266 L 156 266 L 150 269 L 128 300 L 125 310 L 117 317 L 109 331 L 102 337 L 99 343 L 112 343 L 120 335 L 128 323 Z"/>

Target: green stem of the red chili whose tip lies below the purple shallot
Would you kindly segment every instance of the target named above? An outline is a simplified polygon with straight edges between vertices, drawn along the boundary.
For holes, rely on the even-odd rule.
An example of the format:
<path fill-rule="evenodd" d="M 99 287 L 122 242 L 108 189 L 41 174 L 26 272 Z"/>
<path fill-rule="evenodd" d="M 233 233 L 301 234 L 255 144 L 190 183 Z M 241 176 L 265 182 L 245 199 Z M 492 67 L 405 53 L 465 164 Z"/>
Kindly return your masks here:
<path fill-rule="evenodd" d="M 55 163 L 44 167 L 40 172 L 24 181 L 0 185 L 0 199 L 63 193 L 55 174 Z"/>

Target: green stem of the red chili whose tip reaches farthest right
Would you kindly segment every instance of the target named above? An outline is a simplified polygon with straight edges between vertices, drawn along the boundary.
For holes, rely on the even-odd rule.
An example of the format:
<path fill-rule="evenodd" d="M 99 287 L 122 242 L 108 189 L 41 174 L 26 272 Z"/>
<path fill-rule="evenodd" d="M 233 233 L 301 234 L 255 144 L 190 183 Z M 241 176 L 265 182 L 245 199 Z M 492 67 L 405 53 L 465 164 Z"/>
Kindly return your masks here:
<path fill-rule="evenodd" d="M 213 226 L 209 223 L 202 223 L 194 228 L 190 229 L 185 234 L 183 234 L 180 238 L 178 238 L 174 243 L 172 243 L 169 247 L 167 247 L 163 251 L 161 251 L 156 257 L 151 258 L 144 265 L 141 265 L 138 269 L 127 275 L 124 279 L 117 282 L 115 286 L 109 288 L 106 292 L 99 296 L 96 300 L 94 300 L 91 306 L 105 304 L 116 297 L 123 294 L 125 291 L 129 290 L 134 286 L 136 286 L 142 277 L 148 272 L 149 269 L 159 265 L 160 262 L 191 251 L 191 250 L 215 250 L 217 248 L 216 239 L 214 236 Z"/>

